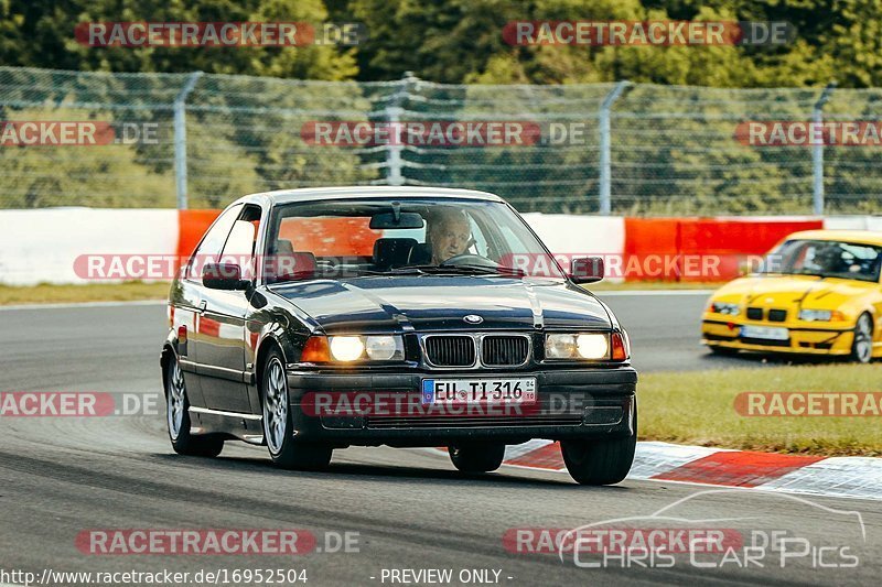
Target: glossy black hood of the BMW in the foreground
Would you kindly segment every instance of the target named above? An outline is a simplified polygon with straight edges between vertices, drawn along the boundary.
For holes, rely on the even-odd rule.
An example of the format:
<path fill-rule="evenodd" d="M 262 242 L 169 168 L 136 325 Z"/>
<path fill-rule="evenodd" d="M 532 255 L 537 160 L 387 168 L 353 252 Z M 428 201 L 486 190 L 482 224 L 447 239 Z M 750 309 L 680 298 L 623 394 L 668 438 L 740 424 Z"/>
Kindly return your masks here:
<path fill-rule="evenodd" d="M 603 305 L 563 281 L 370 276 L 273 285 L 327 334 L 449 329 L 610 328 Z M 463 318 L 481 316 L 480 325 Z"/>

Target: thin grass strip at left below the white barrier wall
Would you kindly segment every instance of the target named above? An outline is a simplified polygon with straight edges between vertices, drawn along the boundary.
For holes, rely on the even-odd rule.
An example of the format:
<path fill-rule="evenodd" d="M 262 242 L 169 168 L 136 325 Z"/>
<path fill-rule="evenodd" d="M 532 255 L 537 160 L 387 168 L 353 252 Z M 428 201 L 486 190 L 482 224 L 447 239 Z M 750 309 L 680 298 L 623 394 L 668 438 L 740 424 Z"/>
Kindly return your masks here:
<path fill-rule="evenodd" d="M 88 285 L 0 285 L 0 305 L 64 304 L 76 302 L 131 302 L 169 297 L 169 282 L 90 283 Z"/>

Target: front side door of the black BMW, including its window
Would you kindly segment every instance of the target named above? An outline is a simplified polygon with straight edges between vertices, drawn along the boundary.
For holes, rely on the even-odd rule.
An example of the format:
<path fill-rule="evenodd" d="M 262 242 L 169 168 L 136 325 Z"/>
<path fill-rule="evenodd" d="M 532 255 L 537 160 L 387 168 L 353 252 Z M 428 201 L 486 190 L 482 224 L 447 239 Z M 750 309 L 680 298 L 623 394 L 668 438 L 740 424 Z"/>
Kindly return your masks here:
<path fill-rule="evenodd" d="M 245 206 L 220 251 L 219 260 L 239 265 L 244 279 L 254 276 L 254 248 L 259 221 L 260 207 Z M 203 396 L 212 410 L 252 413 L 245 382 L 245 314 L 251 293 L 250 289 L 203 289 L 196 343 L 197 372 Z"/>

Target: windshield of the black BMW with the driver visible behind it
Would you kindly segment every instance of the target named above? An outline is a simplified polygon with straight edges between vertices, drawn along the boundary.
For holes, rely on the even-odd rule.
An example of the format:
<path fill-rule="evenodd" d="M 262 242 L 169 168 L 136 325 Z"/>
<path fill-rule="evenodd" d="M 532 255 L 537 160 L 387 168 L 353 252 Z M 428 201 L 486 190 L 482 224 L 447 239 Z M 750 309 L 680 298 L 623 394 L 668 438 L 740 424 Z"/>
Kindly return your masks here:
<path fill-rule="evenodd" d="M 504 203 L 453 198 L 308 202 L 273 209 L 267 236 L 269 282 L 363 275 L 540 276 L 560 267 Z"/>

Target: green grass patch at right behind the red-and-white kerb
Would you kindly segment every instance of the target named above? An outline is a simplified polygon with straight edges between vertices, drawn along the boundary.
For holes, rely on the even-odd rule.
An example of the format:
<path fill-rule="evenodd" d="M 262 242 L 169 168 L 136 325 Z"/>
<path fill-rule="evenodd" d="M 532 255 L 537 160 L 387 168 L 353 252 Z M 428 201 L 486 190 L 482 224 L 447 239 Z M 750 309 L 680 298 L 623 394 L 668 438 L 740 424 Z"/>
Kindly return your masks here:
<path fill-rule="evenodd" d="M 741 416 L 742 391 L 882 391 L 879 365 L 814 365 L 646 373 L 637 387 L 643 441 L 802 453 L 882 456 L 882 416 Z"/>

